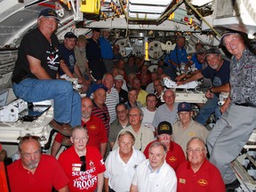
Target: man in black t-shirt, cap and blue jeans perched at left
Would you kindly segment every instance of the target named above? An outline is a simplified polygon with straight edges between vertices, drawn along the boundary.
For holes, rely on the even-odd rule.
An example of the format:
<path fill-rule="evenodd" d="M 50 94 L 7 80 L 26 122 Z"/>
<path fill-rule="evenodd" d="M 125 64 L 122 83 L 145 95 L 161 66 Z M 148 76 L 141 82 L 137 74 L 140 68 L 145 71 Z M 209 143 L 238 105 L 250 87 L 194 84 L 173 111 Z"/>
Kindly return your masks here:
<path fill-rule="evenodd" d="M 40 12 L 37 28 L 24 36 L 12 74 L 12 88 L 17 98 L 27 102 L 54 101 L 52 128 L 71 135 L 71 127 L 80 124 L 81 99 L 68 81 L 56 80 L 60 67 L 57 13 L 52 9 Z M 71 124 L 71 126 L 70 126 Z"/>

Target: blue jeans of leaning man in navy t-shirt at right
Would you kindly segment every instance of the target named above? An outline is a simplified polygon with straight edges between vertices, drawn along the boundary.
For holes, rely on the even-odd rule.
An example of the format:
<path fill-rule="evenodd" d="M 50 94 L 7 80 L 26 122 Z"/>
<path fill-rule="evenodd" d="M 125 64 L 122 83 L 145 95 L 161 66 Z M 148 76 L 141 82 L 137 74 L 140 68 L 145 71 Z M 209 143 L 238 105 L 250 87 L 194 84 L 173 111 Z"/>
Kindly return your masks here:
<path fill-rule="evenodd" d="M 203 108 L 200 108 L 199 114 L 196 116 L 196 122 L 204 125 L 209 116 L 219 107 L 218 101 L 219 97 L 213 94 L 213 99 L 208 99 Z"/>

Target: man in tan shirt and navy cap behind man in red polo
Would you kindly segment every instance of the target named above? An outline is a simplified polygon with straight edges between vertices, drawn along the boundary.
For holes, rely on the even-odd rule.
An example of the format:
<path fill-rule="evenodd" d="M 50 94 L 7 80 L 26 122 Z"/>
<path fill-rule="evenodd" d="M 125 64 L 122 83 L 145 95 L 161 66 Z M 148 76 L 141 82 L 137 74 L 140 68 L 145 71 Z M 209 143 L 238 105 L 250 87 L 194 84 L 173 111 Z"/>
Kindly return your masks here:
<path fill-rule="evenodd" d="M 193 110 L 187 102 L 178 105 L 178 115 L 180 120 L 172 124 L 172 140 L 180 145 L 186 154 L 188 141 L 192 137 L 200 137 L 206 140 L 209 131 L 203 124 L 199 124 L 192 119 Z"/>

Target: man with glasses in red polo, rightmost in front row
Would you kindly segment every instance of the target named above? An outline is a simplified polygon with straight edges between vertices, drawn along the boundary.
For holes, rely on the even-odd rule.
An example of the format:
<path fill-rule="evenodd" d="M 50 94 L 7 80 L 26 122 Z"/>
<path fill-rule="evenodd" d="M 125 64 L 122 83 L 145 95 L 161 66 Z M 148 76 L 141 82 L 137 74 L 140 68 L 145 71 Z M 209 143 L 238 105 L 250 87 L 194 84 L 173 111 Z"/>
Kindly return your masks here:
<path fill-rule="evenodd" d="M 220 171 L 206 159 L 204 140 L 194 137 L 188 141 L 188 161 L 177 170 L 178 192 L 218 191 L 225 192 Z"/>

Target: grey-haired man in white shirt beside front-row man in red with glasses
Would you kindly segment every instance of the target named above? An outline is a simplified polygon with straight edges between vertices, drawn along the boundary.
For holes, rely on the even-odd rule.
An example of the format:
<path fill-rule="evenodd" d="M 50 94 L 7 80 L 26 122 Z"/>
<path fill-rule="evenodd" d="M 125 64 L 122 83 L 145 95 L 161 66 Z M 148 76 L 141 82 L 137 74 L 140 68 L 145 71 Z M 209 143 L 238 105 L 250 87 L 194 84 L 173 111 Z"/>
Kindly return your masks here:
<path fill-rule="evenodd" d="M 131 192 L 176 192 L 176 174 L 172 167 L 165 162 L 166 152 L 167 148 L 161 142 L 151 144 L 148 159 L 142 161 L 136 168 L 130 188 Z"/>

